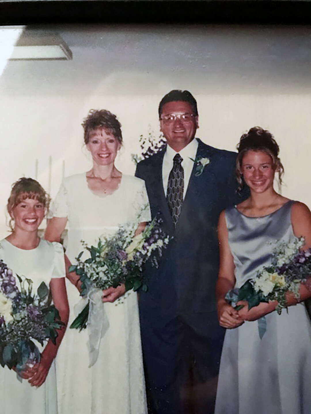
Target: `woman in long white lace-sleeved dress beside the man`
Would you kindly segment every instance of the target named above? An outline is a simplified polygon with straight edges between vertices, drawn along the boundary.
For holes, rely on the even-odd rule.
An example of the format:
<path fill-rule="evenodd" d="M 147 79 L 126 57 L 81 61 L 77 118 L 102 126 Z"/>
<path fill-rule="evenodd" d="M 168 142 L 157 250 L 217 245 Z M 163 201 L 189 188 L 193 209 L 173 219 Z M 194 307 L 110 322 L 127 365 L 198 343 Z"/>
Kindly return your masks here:
<path fill-rule="evenodd" d="M 83 122 L 84 141 L 93 167 L 87 173 L 65 178 L 51 209 L 46 239 L 59 241 L 68 222 L 66 267 L 75 263 L 83 246 L 97 245 L 102 235 L 119 225 L 134 223 L 141 215 L 142 229 L 151 219 L 145 184 L 122 174 L 114 166 L 121 147 L 121 125 L 106 110 L 91 110 Z M 142 212 L 142 213 L 141 213 Z M 80 301 L 78 276 L 67 273 L 70 323 Z M 124 285 L 103 291 L 104 312 L 109 328 L 102 337 L 99 356 L 88 367 L 87 330 L 68 330 L 57 361 L 60 414 L 145 414 L 146 392 L 141 353 L 136 292 L 126 293 L 123 303 L 114 303 Z"/>

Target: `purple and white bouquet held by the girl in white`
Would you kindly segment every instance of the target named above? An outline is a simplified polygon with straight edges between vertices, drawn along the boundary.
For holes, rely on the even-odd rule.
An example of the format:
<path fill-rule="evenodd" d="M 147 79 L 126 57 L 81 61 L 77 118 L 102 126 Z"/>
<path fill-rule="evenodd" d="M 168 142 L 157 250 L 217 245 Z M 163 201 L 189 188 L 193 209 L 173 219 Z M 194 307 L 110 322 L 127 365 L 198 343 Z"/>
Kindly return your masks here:
<path fill-rule="evenodd" d="M 56 344 L 57 329 L 64 324 L 46 284 L 42 282 L 34 294 L 32 280 L 16 276 L 20 289 L 12 270 L 0 260 L 0 363 L 20 373 L 27 364 L 40 361 L 32 339 L 42 346 L 49 339 Z"/>

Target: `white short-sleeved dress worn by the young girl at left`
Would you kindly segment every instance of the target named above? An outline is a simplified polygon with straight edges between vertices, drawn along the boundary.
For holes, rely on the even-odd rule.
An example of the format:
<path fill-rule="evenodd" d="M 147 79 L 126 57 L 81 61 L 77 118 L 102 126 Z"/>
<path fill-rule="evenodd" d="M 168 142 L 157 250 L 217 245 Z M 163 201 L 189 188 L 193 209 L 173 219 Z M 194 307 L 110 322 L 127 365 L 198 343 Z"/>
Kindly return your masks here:
<path fill-rule="evenodd" d="M 39 246 L 23 250 L 3 239 L 0 241 L 0 259 L 14 274 L 32 279 L 36 291 L 41 282 L 47 286 L 54 277 L 65 277 L 63 246 L 40 240 Z M 17 281 L 18 284 L 18 281 Z M 40 344 L 36 343 L 39 350 Z M 27 380 L 20 383 L 16 373 L 0 366 L 0 413 L 2 414 L 57 414 L 56 374 L 53 361 L 41 387 L 31 387 Z"/>

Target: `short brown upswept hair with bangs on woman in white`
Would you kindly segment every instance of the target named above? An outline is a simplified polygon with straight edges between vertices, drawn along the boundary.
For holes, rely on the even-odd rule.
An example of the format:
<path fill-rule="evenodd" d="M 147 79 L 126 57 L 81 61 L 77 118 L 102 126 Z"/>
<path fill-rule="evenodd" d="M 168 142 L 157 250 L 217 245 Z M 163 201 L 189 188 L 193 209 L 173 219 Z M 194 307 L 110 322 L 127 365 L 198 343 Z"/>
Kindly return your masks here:
<path fill-rule="evenodd" d="M 107 132 L 110 132 L 117 139 L 119 144 L 122 145 L 121 124 L 117 117 L 106 109 L 91 109 L 87 117 L 83 119 L 81 125 L 84 129 L 85 144 L 88 144 L 90 140 L 91 131 L 94 131 L 97 128 L 103 128 Z"/>

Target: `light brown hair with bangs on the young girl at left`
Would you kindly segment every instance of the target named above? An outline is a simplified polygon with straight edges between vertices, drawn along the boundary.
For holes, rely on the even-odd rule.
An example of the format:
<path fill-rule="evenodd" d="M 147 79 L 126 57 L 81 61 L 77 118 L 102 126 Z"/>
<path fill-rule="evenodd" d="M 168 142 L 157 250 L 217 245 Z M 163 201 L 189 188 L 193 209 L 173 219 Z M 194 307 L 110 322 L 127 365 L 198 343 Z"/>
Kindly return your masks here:
<path fill-rule="evenodd" d="M 7 200 L 7 212 L 11 215 L 12 209 L 27 198 L 39 201 L 44 205 L 46 210 L 49 208 L 50 197 L 41 184 L 33 178 L 22 177 L 12 185 L 11 194 Z M 12 219 L 10 220 L 9 226 L 13 230 Z"/>

